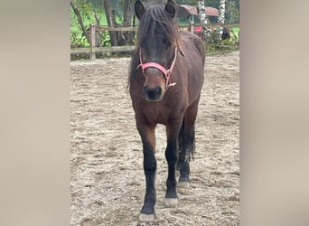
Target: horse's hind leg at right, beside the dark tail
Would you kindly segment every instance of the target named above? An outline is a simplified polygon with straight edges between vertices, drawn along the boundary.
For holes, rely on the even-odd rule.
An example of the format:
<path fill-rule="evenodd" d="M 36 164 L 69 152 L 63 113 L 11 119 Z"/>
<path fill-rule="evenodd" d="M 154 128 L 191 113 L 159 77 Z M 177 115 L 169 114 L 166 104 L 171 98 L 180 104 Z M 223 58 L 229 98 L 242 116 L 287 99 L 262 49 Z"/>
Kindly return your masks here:
<path fill-rule="evenodd" d="M 183 117 L 183 125 L 179 132 L 179 157 L 177 168 L 180 171 L 178 185 L 188 186 L 190 183 L 190 161 L 195 151 L 195 119 L 197 116 L 197 104 L 188 108 Z"/>

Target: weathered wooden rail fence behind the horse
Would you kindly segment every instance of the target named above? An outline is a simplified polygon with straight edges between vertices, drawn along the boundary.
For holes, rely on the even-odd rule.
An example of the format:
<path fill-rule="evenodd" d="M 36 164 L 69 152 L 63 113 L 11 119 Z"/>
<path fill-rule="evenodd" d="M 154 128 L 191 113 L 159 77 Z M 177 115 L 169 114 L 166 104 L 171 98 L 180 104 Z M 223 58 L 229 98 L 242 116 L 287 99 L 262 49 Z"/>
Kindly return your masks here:
<path fill-rule="evenodd" d="M 237 26 L 239 24 L 223 24 L 224 26 Z M 197 26 L 201 27 L 220 27 L 222 24 L 185 24 L 179 25 L 181 30 L 187 30 L 191 33 L 194 32 L 194 28 Z M 90 59 L 96 59 L 96 53 L 106 54 L 109 52 L 133 52 L 136 48 L 135 45 L 124 45 L 124 46 L 103 46 L 103 47 L 95 47 L 96 43 L 96 32 L 105 32 L 105 31 L 113 31 L 113 32 L 133 32 L 137 31 L 137 27 L 129 26 L 129 27 L 108 27 L 108 26 L 98 26 L 96 24 L 90 24 L 89 26 L 89 48 L 72 48 L 70 49 L 70 54 L 89 54 Z"/>

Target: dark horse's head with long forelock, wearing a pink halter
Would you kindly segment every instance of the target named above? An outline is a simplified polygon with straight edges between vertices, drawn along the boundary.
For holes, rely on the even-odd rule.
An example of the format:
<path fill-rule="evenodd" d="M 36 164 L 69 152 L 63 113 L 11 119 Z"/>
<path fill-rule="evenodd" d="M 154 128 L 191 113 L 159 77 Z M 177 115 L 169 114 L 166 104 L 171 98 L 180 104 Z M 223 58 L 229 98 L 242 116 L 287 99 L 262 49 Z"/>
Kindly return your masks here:
<path fill-rule="evenodd" d="M 177 30 L 173 19 L 176 5 L 168 0 L 166 5 L 145 7 L 140 0 L 135 4 L 139 20 L 137 47 L 139 67 L 145 77 L 145 99 L 160 101 L 167 88 L 173 86 L 171 74 L 177 56 Z"/>

